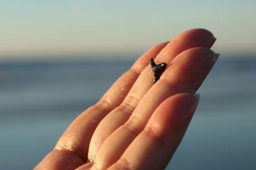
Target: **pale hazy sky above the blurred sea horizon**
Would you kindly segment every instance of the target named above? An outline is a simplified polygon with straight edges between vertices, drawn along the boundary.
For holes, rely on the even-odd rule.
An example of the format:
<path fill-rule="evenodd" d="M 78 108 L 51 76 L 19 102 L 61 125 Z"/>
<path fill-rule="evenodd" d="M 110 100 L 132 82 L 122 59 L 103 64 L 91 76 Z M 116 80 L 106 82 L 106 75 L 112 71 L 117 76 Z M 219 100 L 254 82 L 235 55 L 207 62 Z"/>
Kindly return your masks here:
<path fill-rule="evenodd" d="M 256 53 L 256 1 L 0 1 L 0 60 L 141 53 L 209 29 L 218 53 Z M 121 55 L 120 55 L 121 56 Z"/>

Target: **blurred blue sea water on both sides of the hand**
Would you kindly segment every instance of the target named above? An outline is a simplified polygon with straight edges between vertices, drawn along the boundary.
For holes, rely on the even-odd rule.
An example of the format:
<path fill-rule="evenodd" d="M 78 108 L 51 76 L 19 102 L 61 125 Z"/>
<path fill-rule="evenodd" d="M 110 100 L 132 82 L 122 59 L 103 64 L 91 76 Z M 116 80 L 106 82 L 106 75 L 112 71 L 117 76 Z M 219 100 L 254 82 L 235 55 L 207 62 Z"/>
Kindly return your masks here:
<path fill-rule="evenodd" d="M 32 169 L 131 64 L 0 62 L 0 169 Z M 255 66 L 253 56 L 220 57 L 198 90 L 198 110 L 167 169 L 256 169 Z"/>

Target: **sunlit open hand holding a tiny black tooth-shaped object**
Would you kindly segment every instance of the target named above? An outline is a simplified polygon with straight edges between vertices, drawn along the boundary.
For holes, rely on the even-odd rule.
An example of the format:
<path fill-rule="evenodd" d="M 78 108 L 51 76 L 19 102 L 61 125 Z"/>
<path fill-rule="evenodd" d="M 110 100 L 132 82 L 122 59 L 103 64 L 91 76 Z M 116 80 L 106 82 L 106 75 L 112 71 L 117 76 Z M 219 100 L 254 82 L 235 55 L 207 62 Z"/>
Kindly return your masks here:
<path fill-rule="evenodd" d="M 218 58 L 205 29 L 182 32 L 144 53 L 100 101 L 83 111 L 35 169 L 164 169 Z M 166 62 L 154 84 L 150 58 Z"/>

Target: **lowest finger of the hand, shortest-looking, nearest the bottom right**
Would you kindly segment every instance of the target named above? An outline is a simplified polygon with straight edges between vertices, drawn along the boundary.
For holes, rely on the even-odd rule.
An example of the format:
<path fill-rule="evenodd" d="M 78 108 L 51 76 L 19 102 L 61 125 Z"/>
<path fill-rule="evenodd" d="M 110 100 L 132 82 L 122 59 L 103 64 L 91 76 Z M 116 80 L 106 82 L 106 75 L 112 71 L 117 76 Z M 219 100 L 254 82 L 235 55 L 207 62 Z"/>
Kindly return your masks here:
<path fill-rule="evenodd" d="M 111 169 L 164 169 L 182 140 L 198 96 L 177 94 L 154 111 L 145 129 Z"/>

